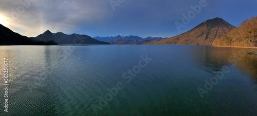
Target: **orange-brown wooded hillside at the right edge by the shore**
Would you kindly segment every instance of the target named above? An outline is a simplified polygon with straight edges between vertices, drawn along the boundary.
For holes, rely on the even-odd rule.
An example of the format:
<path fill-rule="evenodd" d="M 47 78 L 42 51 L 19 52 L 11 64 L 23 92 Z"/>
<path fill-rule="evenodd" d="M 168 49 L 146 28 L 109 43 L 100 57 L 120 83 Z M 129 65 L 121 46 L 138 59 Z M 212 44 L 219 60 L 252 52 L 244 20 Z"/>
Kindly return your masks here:
<path fill-rule="evenodd" d="M 215 39 L 215 46 L 257 47 L 257 16 L 247 19 L 226 35 Z"/>

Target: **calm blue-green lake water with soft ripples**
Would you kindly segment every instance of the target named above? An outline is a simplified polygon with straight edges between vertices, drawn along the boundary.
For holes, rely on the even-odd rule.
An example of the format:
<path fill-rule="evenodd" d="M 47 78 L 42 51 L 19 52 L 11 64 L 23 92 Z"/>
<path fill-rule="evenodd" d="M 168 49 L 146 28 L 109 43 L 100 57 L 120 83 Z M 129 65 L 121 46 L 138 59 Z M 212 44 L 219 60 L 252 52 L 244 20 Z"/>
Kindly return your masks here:
<path fill-rule="evenodd" d="M 1 46 L 0 115 L 257 115 L 257 56 L 246 54 L 254 50 Z"/>

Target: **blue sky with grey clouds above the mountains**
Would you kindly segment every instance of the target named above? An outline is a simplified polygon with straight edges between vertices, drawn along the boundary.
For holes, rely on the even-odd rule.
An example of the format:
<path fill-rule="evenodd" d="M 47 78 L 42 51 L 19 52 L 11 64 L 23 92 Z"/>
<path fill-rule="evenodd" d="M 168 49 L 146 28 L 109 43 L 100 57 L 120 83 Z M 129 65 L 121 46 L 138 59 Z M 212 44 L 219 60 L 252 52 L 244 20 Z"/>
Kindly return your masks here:
<path fill-rule="evenodd" d="M 237 27 L 257 16 L 256 6 L 256 0 L 8 0 L 0 2 L 0 24 L 28 37 L 46 30 L 172 37 L 215 17 Z"/>

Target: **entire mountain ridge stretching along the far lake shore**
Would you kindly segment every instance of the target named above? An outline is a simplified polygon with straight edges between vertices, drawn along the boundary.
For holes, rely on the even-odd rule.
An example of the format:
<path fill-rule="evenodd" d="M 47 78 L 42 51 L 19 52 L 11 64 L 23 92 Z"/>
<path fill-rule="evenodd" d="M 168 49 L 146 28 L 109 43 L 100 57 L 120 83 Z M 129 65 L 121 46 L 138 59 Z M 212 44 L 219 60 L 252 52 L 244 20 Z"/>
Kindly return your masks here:
<path fill-rule="evenodd" d="M 254 27 L 257 25 L 257 21 L 251 20 L 257 20 L 257 17 L 245 20 L 239 27 L 235 28 L 224 19 L 216 17 L 213 19 L 207 19 L 193 29 L 170 38 L 151 36 L 142 38 L 139 36 L 125 36 L 122 34 L 107 37 L 96 36 L 92 38 L 88 35 L 80 35 L 75 33 L 70 35 L 64 34 L 62 32 L 52 33 L 49 30 L 46 30 L 44 33 L 36 37 L 28 38 L 26 36 L 20 35 L 19 33 L 11 31 L 7 27 L 4 27 L 0 24 L 0 45 L 47 45 L 54 44 L 54 41 L 59 44 L 74 44 L 74 41 L 78 39 L 81 40 L 80 44 L 201 44 L 226 47 L 257 47 L 257 39 L 255 40 L 257 37 L 257 27 Z M 231 34 L 231 31 L 233 34 Z M 241 41 L 235 41 L 233 38 L 240 39 Z M 218 42 L 217 39 L 219 40 Z M 222 44 L 221 41 L 232 41 L 235 43 L 226 43 L 225 45 Z M 245 43 L 242 43 L 242 41 Z M 251 42 L 251 44 L 248 44 L 249 42 Z"/>

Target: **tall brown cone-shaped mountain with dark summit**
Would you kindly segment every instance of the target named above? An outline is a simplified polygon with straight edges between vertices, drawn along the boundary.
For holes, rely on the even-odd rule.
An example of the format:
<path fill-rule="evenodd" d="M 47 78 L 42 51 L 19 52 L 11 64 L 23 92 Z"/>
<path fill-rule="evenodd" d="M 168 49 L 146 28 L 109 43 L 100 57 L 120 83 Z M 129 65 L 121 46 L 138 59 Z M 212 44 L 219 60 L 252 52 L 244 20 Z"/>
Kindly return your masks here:
<path fill-rule="evenodd" d="M 146 44 L 202 44 L 211 45 L 214 39 L 227 34 L 235 27 L 229 24 L 222 18 L 213 18 L 205 20 L 192 30 L 182 33 L 180 35 L 161 39 L 153 40 Z"/>

